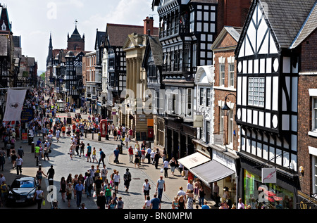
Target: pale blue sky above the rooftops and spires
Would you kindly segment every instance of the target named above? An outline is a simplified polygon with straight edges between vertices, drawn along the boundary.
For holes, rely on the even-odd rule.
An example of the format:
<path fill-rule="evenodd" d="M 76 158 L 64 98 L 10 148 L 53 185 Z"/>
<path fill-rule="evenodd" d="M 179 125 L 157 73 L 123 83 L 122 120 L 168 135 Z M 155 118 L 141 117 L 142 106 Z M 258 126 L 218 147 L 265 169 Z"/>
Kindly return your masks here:
<path fill-rule="evenodd" d="M 66 49 L 67 34 L 75 29 L 85 33 L 85 50 L 94 50 L 96 30 L 105 31 L 107 23 L 143 25 L 147 16 L 159 25 L 151 0 L 4 0 L 13 35 L 22 38 L 22 53 L 35 57 L 38 70 L 45 70 L 49 34 L 54 49 Z"/>

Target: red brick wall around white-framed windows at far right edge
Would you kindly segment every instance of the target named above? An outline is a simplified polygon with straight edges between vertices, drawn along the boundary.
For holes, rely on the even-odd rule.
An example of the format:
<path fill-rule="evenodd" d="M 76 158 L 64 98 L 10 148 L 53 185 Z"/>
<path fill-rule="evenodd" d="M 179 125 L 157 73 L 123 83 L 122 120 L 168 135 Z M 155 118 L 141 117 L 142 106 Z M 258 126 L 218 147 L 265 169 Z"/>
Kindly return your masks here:
<path fill-rule="evenodd" d="M 302 43 L 301 72 L 317 72 L 317 34 L 316 31 Z M 317 137 L 309 136 L 312 122 L 312 98 L 309 89 L 317 89 L 317 75 L 299 75 L 298 83 L 298 167 L 304 167 L 299 173 L 301 191 L 312 193 L 311 156 L 309 146 L 317 147 Z"/>

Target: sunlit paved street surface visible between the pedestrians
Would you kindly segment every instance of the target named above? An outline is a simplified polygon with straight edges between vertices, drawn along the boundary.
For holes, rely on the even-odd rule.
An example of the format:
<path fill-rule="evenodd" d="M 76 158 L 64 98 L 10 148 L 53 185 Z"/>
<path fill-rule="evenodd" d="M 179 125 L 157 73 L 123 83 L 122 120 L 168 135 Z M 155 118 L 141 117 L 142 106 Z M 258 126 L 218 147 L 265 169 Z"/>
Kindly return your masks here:
<path fill-rule="evenodd" d="M 79 110 L 78 110 L 79 112 Z M 74 117 L 75 113 L 70 113 L 72 117 Z M 56 117 L 66 117 L 67 114 L 65 113 L 58 113 Z M 87 118 L 87 115 L 83 114 L 82 119 Z M 34 141 L 38 139 L 42 139 L 42 136 L 34 136 Z M 96 148 L 97 150 L 97 160 L 99 160 L 99 148 L 104 151 L 106 154 L 106 158 L 104 159 L 106 167 L 108 169 L 107 179 L 110 180 L 110 174 L 113 170 L 117 170 L 120 174 L 120 184 L 118 186 L 118 193 L 117 197 L 122 197 L 124 202 L 124 209 L 142 209 L 144 205 L 144 193 L 142 191 L 142 185 L 144 184 L 144 179 L 149 179 L 149 184 L 151 185 L 150 190 L 150 198 L 153 198 L 154 193 L 156 193 L 156 182 L 163 173 L 160 171 L 161 167 L 163 167 L 162 159 L 159 160 L 159 167 L 156 169 L 154 165 L 148 163 L 142 163 L 140 167 L 135 167 L 134 163 L 129 162 L 128 157 L 128 149 L 123 146 L 123 152 L 119 155 L 119 163 L 113 163 L 114 156 L 113 151 L 116 147 L 120 144 L 120 141 L 116 141 L 113 139 L 113 136 L 109 136 L 109 139 L 98 139 L 98 134 L 92 135 L 92 133 L 84 134 L 82 139 L 85 144 L 85 153 L 87 151 L 87 144 L 90 144 L 92 148 Z M 22 145 L 25 150 L 25 157 L 24 157 L 24 164 L 23 164 L 23 177 L 30 176 L 35 177 L 35 173 L 38 169 L 36 159 L 34 158 L 34 153 L 31 152 L 31 146 L 27 144 L 27 142 L 17 141 L 16 145 Z M 130 145 L 134 148 L 135 141 L 132 141 Z M 62 177 L 67 179 L 68 174 L 72 174 L 72 177 L 75 174 L 82 174 L 85 176 L 85 172 L 89 170 L 92 165 L 94 168 L 97 167 L 96 161 L 94 163 L 87 162 L 87 158 L 84 156 L 75 155 L 73 160 L 70 159 L 69 150 L 71 146 L 71 138 L 70 136 L 61 136 L 60 141 L 56 141 L 56 137 L 53 137 L 53 141 L 51 144 L 51 153 L 49 153 L 49 160 L 39 160 L 39 165 L 42 165 L 42 170 L 46 174 L 49 170 L 51 165 L 55 170 L 54 175 L 54 186 L 56 187 L 56 198 L 58 200 L 58 208 L 60 209 L 78 209 L 76 205 L 76 199 L 74 196 L 70 201 L 70 208 L 68 208 L 68 201 L 63 201 L 61 198 L 60 190 L 60 181 Z M 146 160 L 147 162 L 147 160 Z M 10 164 L 6 164 L 3 174 L 6 177 L 8 183 L 11 184 L 13 179 L 15 179 L 15 170 L 9 169 L 8 167 Z M 102 165 L 102 163 L 101 163 Z M 100 167 L 101 168 L 101 167 Z M 123 174 L 125 170 L 129 168 L 129 172 L 132 174 L 132 181 L 130 182 L 130 189 L 129 193 L 125 192 L 125 186 L 123 181 Z M 166 181 L 166 191 L 163 191 L 161 209 L 170 209 L 171 203 L 173 198 L 177 195 L 179 191 L 179 187 L 182 186 L 183 189 L 186 189 L 187 180 L 181 177 L 180 172 L 175 170 L 175 175 L 171 176 L 170 170 L 168 172 L 168 177 L 163 177 Z M 44 177 L 42 188 L 50 189 L 49 187 L 49 179 Z M 45 191 L 45 190 L 44 190 Z M 48 191 L 46 191 L 46 194 Z M 54 196 L 51 196 L 54 199 Z M 213 208 L 213 201 L 211 199 L 206 198 L 209 200 L 209 205 Z M 97 209 L 96 204 L 97 197 L 89 197 L 87 198 L 86 194 L 82 195 L 82 203 L 85 203 L 85 207 L 87 209 Z M 5 207 L 4 208 L 17 208 L 14 206 Z M 19 207 L 20 208 L 20 207 Z M 23 206 L 23 208 L 37 208 L 36 205 L 30 206 Z M 42 207 L 43 209 L 51 208 L 51 203 L 46 203 L 45 206 Z M 195 207 L 194 207 L 195 208 Z M 200 208 L 200 207 L 199 207 Z"/>

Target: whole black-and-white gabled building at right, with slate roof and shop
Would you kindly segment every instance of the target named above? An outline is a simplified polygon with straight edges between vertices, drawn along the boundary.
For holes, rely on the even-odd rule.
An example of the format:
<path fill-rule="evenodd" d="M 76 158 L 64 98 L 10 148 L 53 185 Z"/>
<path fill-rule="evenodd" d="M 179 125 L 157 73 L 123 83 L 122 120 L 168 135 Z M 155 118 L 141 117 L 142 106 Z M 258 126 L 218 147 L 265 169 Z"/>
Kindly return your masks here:
<path fill-rule="evenodd" d="M 253 1 L 235 51 L 244 203 L 252 197 L 261 201 L 254 191 L 262 190 L 262 184 L 282 200 L 296 199 L 299 54 L 289 48 L 315 1 L 303 1 L 301 8 L 294 3 Z M 273 184 L 265 184 L 263 167 L 273 167 L 277 177 Z M 246 185 L 253 186 L 242 190 Z M 278 198 L 262 201 L 275 206 Z"/>

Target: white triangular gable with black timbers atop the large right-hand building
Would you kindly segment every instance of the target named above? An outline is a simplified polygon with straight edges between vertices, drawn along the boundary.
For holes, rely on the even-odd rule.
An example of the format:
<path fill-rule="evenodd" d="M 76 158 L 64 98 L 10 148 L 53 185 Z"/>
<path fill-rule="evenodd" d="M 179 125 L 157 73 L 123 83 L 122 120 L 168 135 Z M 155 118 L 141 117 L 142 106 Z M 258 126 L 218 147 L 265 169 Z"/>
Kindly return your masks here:
<path fill-rule="evenodd" d="M 238 57 L 279 53 L 280 46 L 276 44 L 275 34 L 259 2 L 249 16 L 247 30 L 240 39 Z"/>

